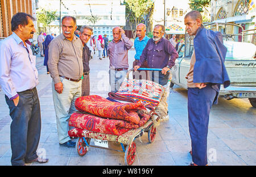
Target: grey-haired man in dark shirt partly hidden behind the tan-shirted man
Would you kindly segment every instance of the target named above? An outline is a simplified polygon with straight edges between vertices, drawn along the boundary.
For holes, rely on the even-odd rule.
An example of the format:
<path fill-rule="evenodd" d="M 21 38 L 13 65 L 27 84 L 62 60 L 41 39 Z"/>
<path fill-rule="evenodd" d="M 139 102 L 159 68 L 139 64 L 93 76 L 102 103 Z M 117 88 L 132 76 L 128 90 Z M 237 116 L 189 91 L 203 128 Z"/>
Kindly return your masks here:
<path fill-rule="evenodd" d="M 88 26 L 82 26 L 80 28 L 80 39 L 82 41 L 82 45 L 84 48 L 82 50 L 82 64 L 84 65 L 84 78 L 82 79 L 82 94 L 81 96 L 90 95 L 90 68 L 89 68 L 89 60 L 91 56 L 91 52 L 89 47 L 86 45 L 90 40 L 90 36 L 92 35 L 93 28 Z"/>

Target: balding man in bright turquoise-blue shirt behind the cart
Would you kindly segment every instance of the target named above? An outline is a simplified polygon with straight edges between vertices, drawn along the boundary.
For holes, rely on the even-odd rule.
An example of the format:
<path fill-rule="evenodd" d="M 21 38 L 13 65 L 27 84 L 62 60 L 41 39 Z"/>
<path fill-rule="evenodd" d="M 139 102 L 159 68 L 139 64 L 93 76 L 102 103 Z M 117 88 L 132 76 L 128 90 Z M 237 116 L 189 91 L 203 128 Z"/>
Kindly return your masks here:
<path fill-rule="evenodd" d="M 150 39 L 149 37 L 146 36 L 146 25 L 143 23 L 138 24 L 136 28 L 136 33 L 137 33 L 137 38 L 134 40 L 134 48 L 136 51 L 136 54 L 134 56 L 135 60 L 133 62 L 133 67 L 137 65 L 137 62 L 139 61 L 139 57 L 141 57 L 143 49 L 147 45 L 147 41 Z M 141 68 L 149 68 L 147 61 L 144 61 L 143 64 L 141 65 Z M 138 78 L 137 76 L 141 77 Z M 134 73 L 134 78 L 135 79 L 147 79 L 147 71 L 139 71 L 138 74 L 137 72 Z"/>

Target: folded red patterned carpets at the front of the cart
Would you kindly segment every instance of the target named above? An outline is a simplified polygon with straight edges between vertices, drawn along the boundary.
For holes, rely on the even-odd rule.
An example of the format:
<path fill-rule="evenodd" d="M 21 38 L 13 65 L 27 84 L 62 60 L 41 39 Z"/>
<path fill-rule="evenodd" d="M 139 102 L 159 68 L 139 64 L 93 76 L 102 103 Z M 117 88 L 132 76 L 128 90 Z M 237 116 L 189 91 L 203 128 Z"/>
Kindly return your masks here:
<path fill-rule="evenodd" d="M 92 132 L 119 136 L 129 129 L 141 127 L 150 119 L 141 102 L 111 102 L 98 95 L 89 95 L 77 98 L 75 106 L 79 112 L 71 115 L 69 126 Z"/>

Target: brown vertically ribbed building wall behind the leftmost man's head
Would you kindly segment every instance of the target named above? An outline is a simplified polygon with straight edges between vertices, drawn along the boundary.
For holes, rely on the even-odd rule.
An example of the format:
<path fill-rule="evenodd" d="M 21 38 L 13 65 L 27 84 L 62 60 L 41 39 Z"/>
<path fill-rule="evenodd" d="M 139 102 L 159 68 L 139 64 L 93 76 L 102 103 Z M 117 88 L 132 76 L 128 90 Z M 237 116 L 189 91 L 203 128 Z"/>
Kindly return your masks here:
<path fill-rule="evenodd" d="M 0 38 L 8 37 L 11 31 L 11 18 L 17 12 L 26 12 L 36 18 L 35 0 L 1 0 L 0 1 Z"/>

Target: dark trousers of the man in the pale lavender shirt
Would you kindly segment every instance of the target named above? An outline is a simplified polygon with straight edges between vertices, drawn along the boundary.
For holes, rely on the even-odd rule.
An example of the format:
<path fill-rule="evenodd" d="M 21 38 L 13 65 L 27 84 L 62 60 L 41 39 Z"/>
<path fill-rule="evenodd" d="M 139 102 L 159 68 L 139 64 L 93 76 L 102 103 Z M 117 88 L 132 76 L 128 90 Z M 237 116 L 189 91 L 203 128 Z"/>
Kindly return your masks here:
<path fill-rule="evenodd" d="M 10 109 L 11 121 L 11 165 L 24 165 L 24 161 L 38 158 L 41 114 L 38 92 L 36 88 L 18 92 L 19 103 L 5 95 Z"/>

